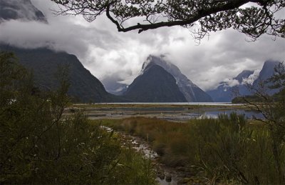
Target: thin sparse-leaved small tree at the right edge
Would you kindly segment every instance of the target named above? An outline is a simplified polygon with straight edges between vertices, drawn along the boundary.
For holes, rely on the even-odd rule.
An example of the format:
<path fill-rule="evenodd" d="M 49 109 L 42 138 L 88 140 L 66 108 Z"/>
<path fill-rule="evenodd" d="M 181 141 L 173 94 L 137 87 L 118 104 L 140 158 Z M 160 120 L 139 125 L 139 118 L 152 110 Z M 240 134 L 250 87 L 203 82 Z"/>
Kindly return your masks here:
<path fill-rule="evenodd" d="M 257 119 L 268 126 L 272 152 L 276 163 L 276 171 L 279 175 L 279 182 L 285 181 L 284 166 L 281 166 L 281 152 L 285 144 L 285 66 L 279 63 L 274 68 L 274 75 L 266 81 L 261 81 L 259 86 L 248 84 L 258 101 L 251 101 L 247 96 L 242 97 L 250 109 L 258 111 L 264 119 Z M 270 96 L 266 89 L 279 89 L 279 92 Z"/>

